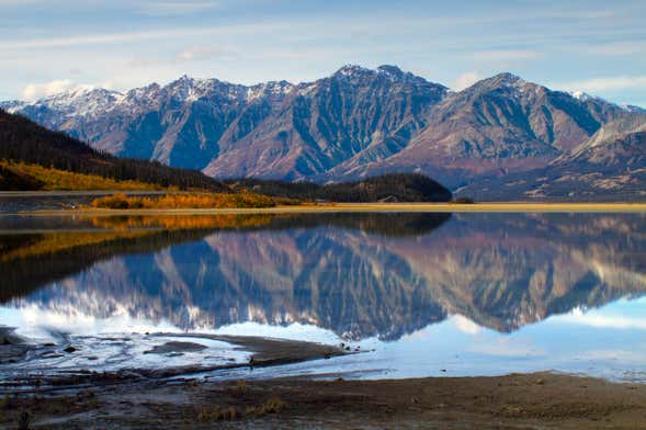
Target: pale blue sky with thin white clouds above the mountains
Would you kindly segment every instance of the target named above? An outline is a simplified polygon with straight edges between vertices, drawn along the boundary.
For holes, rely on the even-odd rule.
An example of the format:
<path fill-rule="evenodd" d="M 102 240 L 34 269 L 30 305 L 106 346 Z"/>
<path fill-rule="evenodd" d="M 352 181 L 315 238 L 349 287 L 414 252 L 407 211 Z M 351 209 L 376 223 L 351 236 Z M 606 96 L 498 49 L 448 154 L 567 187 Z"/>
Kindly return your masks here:
<path fill-rule="evenodd" d="M 644 0 L 0 0 L 0 100 L 387 64 L 454 90 L 510 71 L 646 106 L 645 16 Z"/>

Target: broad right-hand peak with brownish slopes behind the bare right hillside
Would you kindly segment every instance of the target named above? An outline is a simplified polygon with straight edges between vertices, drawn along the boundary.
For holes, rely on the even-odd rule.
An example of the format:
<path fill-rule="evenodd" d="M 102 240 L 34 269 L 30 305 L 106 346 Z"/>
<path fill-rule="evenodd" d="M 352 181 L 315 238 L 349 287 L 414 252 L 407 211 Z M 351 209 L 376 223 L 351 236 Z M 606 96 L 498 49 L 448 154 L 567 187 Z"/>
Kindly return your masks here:
<path fill-rule="evenodd" d="M 478 176 L 543 167 L 587 142 L 601 125 L 632 116 L 600 99 L 583 100 L 501 73 L 449 94 L 406 148 L 367 171 L 417 167 L 455 186 Z M 345 172 L 365 170 L 354 165 Z"/>

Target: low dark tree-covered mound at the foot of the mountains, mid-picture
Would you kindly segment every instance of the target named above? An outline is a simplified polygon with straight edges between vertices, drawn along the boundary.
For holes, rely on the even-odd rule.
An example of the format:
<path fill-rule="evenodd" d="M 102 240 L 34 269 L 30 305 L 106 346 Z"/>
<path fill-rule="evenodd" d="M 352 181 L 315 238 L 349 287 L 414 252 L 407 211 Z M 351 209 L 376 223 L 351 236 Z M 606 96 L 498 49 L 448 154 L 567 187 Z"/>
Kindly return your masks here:
<path fill-rule="evenodd" d="M 287 182 L 258 179 L 227 181 L 234 189 L 274 197 L 325 200 L 331 202 L 449 202 L 446 188 L 423 174 L 393 173 L 359 182 L 319 185 L 314 182 Z"/>

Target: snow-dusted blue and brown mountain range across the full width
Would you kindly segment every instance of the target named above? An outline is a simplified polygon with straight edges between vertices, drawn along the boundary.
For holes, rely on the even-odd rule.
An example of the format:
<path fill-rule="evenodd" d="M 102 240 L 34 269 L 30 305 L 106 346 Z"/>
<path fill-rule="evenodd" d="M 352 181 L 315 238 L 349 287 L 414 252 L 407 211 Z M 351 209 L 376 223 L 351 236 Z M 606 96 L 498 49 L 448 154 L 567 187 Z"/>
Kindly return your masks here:
<path fill-rule="evenodd" d="M 395 66 L 344 66 L 298 84 L 184 76 L 126 93 L 83 89 L 0 108 L 102 151 L 223 179 L 419 172 L 477 200 L 603 200 L 617 188 L 646 197 L 645 110 L 511 73 L 462 91 Z"/>

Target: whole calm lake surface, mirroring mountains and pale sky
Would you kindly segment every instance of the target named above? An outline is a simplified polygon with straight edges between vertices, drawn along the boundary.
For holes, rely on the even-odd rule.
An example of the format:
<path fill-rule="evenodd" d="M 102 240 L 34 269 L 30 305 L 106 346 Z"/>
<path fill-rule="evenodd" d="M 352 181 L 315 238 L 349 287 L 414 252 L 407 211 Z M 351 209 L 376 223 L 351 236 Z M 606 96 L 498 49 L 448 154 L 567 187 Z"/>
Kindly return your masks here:
<path fill-rule="evenodd" d="M 248 359 L 206 339 L 199 352 L 143 353 L 161 341 L 146 332 L 195 331 L 366 351 L 231 377 L 554 370 L 644 382 L 646 216 L 1 216 L 0 325 L 80 347 L 5 367 L 16 372 Z"/>

